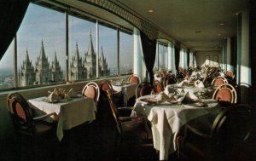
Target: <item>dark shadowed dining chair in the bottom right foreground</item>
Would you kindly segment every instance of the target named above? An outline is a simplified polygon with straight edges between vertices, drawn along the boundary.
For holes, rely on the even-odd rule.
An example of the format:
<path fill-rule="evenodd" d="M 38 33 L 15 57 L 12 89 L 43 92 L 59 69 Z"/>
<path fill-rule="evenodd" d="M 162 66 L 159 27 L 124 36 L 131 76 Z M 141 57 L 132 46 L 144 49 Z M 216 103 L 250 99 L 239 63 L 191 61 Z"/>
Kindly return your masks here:
<path fill-rule="evenodd" d="M 245 155 L 241 147 L 252 132 L 252 113 L 247 107 L 233 105 L 185 124 L 176 140 L 179 160 L 239 160 L 236 153 Z"/>

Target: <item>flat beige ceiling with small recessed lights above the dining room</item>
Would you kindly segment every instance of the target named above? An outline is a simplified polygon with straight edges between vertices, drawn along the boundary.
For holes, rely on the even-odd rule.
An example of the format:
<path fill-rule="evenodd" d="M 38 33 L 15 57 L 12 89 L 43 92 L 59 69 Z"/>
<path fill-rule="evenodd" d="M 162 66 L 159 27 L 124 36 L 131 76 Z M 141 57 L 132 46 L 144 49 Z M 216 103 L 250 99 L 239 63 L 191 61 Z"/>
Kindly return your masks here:
<path fill-rule="evenodd" d="M 86 0 L 56 1 L 64 3 L 68 9 L 69 7 L 79 9 L 102 20 L 132 29 L 127 21 L 104 9 L 84 3 Z M 222 49 L 226 37 L 236 37 L 236 14 L 249 7 L 249 0 L 112 0 L 112 2 L 154 24 L 160 30 L 158 38 L 161 41 L 180 43 L 183 48 L 195 52 Z M 148 12 L 150 9 L 153 10 L 152 13 Z"/>

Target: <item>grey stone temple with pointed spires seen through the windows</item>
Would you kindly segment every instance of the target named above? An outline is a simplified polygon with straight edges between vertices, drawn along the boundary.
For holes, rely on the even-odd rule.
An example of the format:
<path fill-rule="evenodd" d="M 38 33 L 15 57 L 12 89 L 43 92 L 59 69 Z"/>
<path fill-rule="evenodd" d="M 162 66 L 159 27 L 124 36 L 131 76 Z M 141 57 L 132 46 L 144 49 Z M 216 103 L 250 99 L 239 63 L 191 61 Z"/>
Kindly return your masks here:
<path fill-rule="evenodd" d="M 87 51 L 84 53 L 84 59 L 79 55 L 78 43 L 76 44 L 75 54 L 70 59 L 69 80 L 84 80 L 87 78 L 96 78 L 96 53 L 93 47 L 91 32 L 90 41 Z M 103 49 L 99 55 L 99 77 L 108 76 L 110 69 L 108 62 L 103 54 Z M 28 51 L 26 50 L 26 59 L 21 65 L 19 72 L 19 85 L 36 85 L 50 82 L 63 81 L 63 72 L 59 60 L 57 60 L 56 52 L 54 60 L 49 64 L 48 57 L 45 55 L 44 43 L 42 41 L 40 53 L 35 66 L 32 66 L 32 61 L 29 59 Z"/>

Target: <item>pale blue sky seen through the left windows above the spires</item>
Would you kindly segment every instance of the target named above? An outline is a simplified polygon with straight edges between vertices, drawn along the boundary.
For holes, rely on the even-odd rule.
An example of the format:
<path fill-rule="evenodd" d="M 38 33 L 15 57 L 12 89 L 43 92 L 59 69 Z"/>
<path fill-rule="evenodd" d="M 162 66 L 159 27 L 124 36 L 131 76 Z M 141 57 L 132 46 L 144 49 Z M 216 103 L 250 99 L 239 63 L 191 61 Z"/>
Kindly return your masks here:
<path fill-rule="evenodd" d="M 84 57 L 89 44 L 90 30 L 96 51 L 96 24 L 71 15 L 69 15 L 68 19 L 69 59 L 71 59 L 75 52 L 76 43 L 79 46 L 79 55 Z M 100 26 L 99 31 L 100 52 L 102 48 L 105 57 L 107 57 L 108 66 L 115 68 L 117 64 L 117 32 L 105 26 Z M 32 64 L 35 65 L 42 41 L 44 42 L 44 50 L 49 63 L 51 64 L 56 52 L 61 68 L 64 69 L 66 62 L 65 38 L 65 14 L 31 3 L 17 32 L 18 70 L 22 61 L 25 60 L 26 50 L 30 60 L 32 60 Z M 120 34 L 120 40 L 120 55 L 122 61 L 125 61 L 123 66 L 130 65 L 132 67 L 132 36 Z M 13 68 L 13 50 L 13 43 L 11 43 L 9 49 L 3 55 L 3 59 L 0 61 L 0 70 Z"/>

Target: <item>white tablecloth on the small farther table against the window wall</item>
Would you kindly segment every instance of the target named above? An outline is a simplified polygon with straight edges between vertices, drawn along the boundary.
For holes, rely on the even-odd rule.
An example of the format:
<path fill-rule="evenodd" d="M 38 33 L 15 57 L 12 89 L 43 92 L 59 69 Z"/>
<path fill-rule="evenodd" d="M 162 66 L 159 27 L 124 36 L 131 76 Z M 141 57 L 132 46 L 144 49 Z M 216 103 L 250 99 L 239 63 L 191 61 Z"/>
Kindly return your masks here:
<path fill-rule="evenodd" d="M 124 96 L 124 106 L 127 106 L 129 99 L 135 95 L 137 83 L 125 83 L 123 85 L 112 85 L 115 91 L 122 91 Z"/>

